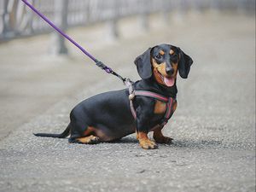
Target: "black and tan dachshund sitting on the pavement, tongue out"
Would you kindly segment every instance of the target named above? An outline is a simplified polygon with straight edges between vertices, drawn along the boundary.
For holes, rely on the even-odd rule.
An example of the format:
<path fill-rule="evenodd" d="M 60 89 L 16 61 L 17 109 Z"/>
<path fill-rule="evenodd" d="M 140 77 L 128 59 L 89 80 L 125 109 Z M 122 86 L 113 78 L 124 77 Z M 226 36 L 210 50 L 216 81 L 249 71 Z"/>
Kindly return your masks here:
<path fill-rule="evenodd" d="M 142 148 L 157 148 L 156 143 L 171 143 L 172 138 L 163 136 L 161 129 L 177 108 L 177 72 L 186 79 L 192 63 L 189 55 L 175 46 L 161 44 L 150 48 L 135 60 L 142 80 L 132 84 L 132 90 L 143 90 L 150 96 L 137 94 L 130 98 L 130 102 L 131 92 L 128 89 L 92 96 L 73 108 L 71 121 L 63 133 L 35 135 L 58 138 L 70 135 L 70 143 L 94 144 L 111 142 L 137 132 Z M 136 118 L 131 113 L 132 109 Z M 156 143 L 148 139 L 149 131 L 154 131 Z"/>

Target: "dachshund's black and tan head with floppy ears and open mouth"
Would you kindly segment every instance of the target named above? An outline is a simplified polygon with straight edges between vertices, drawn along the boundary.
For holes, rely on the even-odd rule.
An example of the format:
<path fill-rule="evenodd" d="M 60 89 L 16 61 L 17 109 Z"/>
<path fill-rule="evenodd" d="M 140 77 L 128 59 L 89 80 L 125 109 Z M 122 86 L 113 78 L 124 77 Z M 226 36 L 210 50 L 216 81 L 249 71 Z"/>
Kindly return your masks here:
<path fill-rule="evenodd" d="M 183 79 L 188 78 L 193 60 L 178 47 L 160 44 L 137 56 L 134 63 L 142 79 L 154 76 L 158 84 L 172 87 L 176 82 L 177 71 Z"/>

